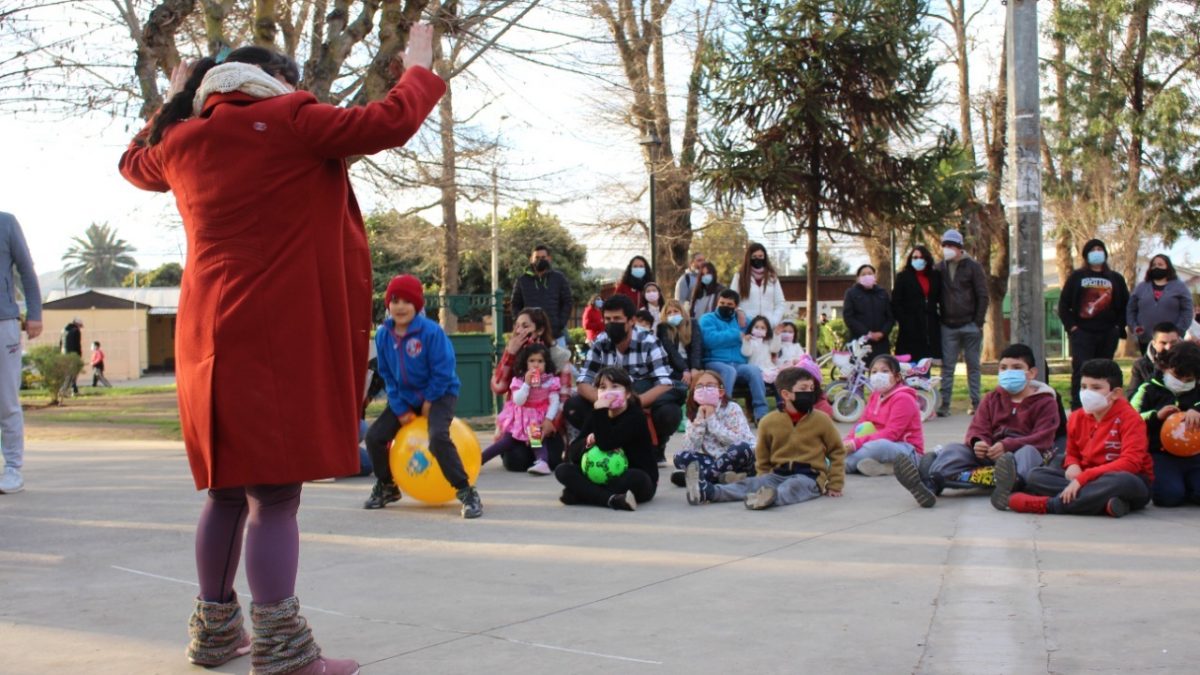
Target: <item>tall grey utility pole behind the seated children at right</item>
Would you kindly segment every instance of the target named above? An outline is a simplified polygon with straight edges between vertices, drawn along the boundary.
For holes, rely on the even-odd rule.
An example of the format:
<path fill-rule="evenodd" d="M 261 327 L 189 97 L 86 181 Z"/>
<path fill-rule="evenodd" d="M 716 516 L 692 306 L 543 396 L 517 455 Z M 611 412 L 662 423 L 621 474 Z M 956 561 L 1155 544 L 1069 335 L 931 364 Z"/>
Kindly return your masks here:
<path fill-rule="evenodd" d="M 1037 0 L 1008 0 L 1008 166 L 1012 191 L 1008 226 L 1012 234 L 1013 342 L 1028 345 L 1034 363 L 1045 368 L 1045 288 L 1042 282 L 1042 137 L 1038 84 Z M 1049 377 L 1049 374 L 1043 374 Z"/>

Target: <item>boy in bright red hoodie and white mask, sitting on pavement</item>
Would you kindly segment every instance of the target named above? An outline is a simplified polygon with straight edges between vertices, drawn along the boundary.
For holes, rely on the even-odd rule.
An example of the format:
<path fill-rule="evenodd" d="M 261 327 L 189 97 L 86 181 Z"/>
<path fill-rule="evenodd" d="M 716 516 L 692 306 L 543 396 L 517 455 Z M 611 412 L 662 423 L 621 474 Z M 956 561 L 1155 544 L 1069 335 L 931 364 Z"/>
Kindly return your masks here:
<path fill-rule="evenodd" d="M 1008 497 L 1010 510 L 1121 518 L 1150 502 L 1154 465 L 1146 423 L 1121 393 L 1121 368 L 1111 359 L 1092 359 L 1080 376 L 1084 407 L 1067 420 L 1066 470 L 1031 471 L 1025 490 Z M 997 477 L 996 491 L 1008 488 Z"/>

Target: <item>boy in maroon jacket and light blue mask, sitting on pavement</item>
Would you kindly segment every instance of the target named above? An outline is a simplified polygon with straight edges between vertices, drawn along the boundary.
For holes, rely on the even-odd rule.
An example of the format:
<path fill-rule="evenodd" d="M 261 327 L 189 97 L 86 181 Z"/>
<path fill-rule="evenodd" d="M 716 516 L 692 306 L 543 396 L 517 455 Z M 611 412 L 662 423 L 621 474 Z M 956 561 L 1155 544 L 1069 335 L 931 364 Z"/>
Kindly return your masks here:
<path fill-rule="evenodd" d="M 992 504 L 1004 503 L 1033 468 L 1054 454 L 1060 406 L 1054 389 L 1037 381 L 1033 350 L 1009 345 L 1000 354 L 1000 386 L 979 404 L 962 443 L 925 453 L 920 464 L 895 460 L 895 476 L 923 507 L 937 502 L 946 488 L 986 488 Z M 992 468 L 994 480 L 982 482 Z"/>

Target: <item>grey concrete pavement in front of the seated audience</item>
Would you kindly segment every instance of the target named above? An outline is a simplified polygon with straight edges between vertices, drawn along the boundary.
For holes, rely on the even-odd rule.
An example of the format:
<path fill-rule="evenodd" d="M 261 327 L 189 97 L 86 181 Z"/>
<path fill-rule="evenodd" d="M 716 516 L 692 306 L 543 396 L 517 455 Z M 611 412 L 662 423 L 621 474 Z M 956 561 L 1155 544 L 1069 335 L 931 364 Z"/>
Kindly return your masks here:
<path fill-rule="evenodd" d="M 926 426 L 956 441 L 965 417 Z M 676 440 L 678 442 L 678 440 Z M 203 496 L 179 443 L 34 443 L 0 496 L 0 673 L 199 673 L 184 659 Z M 298 595 L 318 643 L 391 673 L 1195 673 L 1200 509 L 1121 520 L 917 507 L 892 478 L 751 513 L 563 507 L 479 480 L 485 515 L 371 480 L 305 488 Z M 238 581 L 242 601 L 250 593 Z M 248 673 L 247 658 L 217 669 Z"/>

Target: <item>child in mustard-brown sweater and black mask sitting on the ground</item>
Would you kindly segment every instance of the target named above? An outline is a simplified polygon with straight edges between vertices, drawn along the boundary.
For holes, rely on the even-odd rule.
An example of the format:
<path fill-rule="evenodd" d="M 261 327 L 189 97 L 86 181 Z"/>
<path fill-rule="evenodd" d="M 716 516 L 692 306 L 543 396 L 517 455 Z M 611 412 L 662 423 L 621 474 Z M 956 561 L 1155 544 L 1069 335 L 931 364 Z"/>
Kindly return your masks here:
<path fill-rule="evenodd" d="M 787 368 L 775 377 L 775 388 L 784 410 L 758 422 L 757 476 L 720 485 L 701 480 L 698 465 L 689 465 L 688 503 L 740 501 L 758 510 L 841 496 L 846 448 L 833 420 L 812 410 L 820 396 L 816 378 L 804 369 Z"/>

